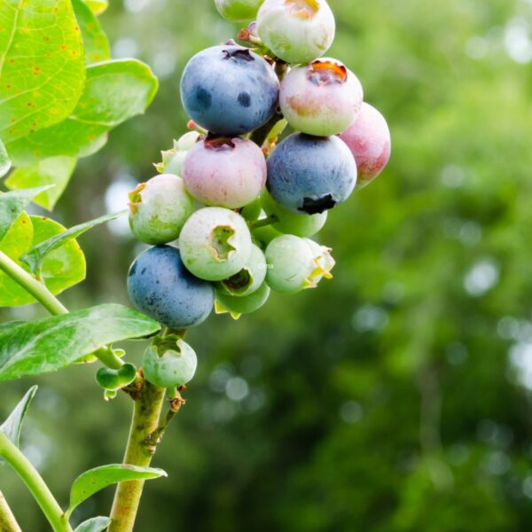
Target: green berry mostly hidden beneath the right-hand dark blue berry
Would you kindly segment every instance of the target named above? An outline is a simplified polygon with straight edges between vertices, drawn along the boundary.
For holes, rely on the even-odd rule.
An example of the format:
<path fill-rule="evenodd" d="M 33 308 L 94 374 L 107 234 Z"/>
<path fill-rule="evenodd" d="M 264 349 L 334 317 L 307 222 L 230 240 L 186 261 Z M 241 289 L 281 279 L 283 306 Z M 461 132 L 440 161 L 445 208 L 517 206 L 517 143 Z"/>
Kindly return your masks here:
<path fill-rule="evenodd" d="M 311 237 L 320 231 L 327 221 L 327 211 L 316 215 L 293 213 L 273 200 L 268 191 L 262 192 L 261 202 L 267 215 L 278 218 L 278 222 L 271 225 L 281 233 L 288 233 L 297 237 Z"/>

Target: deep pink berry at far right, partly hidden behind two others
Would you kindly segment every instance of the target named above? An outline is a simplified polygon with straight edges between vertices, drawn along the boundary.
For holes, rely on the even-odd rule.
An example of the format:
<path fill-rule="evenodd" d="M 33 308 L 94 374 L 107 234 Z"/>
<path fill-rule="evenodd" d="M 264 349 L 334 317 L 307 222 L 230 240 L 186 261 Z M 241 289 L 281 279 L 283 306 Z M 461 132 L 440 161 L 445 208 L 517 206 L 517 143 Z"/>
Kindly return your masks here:
<path fill-rule="evenodd" d="M 358 180 L 362 188 L 379 176 L 391 153 L 390 130 L 382 114 L 369 104 L 362 105 L 355 121 L 340 134 L 355 156 Z"/>

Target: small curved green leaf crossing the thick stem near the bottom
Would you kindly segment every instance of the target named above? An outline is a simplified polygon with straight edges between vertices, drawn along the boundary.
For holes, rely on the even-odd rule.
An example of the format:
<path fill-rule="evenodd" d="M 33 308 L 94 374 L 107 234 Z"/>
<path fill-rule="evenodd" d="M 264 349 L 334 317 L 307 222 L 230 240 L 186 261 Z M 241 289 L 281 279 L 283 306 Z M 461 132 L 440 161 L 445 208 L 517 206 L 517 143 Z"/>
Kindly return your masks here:
<path fill-rule="evenodd" d="M 66 514 L 70 514 L 77 505 L 100 489 L 104 489 L 111 484 L 123 481 L 142 481 L 157 479 L 161 476 L 168 476 L 162 469 L 154 467 L 137 467 L 136 465 L 110 464 L 95 467 L 75 479 L 70 490 L 70 505 Z"/>

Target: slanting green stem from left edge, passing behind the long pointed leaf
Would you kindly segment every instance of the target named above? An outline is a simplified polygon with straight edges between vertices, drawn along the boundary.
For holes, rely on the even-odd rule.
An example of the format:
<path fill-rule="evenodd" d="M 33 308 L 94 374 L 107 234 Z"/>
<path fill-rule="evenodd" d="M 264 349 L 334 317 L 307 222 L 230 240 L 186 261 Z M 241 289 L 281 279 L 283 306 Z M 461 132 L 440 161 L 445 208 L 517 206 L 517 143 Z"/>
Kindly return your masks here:
<path fill-rule="evenodd" d="M 27 273 L 17 262 L 14 262 L 2 251 L 0 251 L 0 270 L 3 270 L 13 281 L 24 288 L 27 293 L 31 293 L 52 316 L 68 314 L 68 309 L 66 309 L 65 305 L 43 283 Z M 113 370 L 121 368 L 123 364 L 121 359 L 114 355 L 113 349 L 109 347 L 99 348 L 93 355 L 97 356 L 102 364 L 105 364 Z"/>

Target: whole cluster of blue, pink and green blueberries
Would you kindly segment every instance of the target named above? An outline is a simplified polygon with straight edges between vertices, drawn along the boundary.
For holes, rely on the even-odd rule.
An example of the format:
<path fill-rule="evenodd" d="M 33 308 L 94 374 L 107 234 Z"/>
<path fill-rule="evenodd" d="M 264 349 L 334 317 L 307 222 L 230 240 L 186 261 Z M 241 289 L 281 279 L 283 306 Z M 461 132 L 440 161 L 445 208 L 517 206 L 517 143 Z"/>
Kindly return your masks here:
<path fill-rule="evenodd" d="M 364 103 L 356 75 L 322 57 L 335 30 L 325 0 L 215 4 L 228 20 L 256 18 L 239 32 L 246 45 L 192 57 L 181 99 L 195 130 L 129 194 L 131 230 L 153 245 L 131 265 L 129 297 L 173 331 L 213 308 L 239 317 L 270 289 L 297 293 L 330 278 L 331 250 L 309 237 L 390 155 L 387 123 Z M 295 132 L 277 144 L 286 125 Z M 143 359 L 146 379 L 164 387 L 195 367 L 178 336 Z"/>

